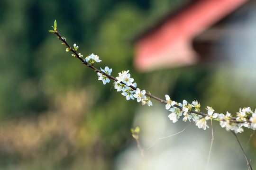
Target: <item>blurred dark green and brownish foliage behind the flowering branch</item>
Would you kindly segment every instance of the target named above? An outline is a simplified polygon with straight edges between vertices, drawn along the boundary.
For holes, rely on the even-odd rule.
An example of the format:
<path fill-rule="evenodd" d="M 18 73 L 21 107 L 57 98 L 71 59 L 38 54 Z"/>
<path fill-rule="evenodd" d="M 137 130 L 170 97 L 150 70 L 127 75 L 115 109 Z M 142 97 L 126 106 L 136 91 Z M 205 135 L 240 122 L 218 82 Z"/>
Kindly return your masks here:
<path fill-rule="evenodd" d="M 177 3 L 1 0 L 0 169 L 110 170 L 114 156 L 132 140 L 138 103 L 126 101 L 111 83 L 102 85 L 91 69 L 65 52 L 48 32 L 55 19 L 59 33 L 70 45 L 79 45 L 83 56 L 100 56 L 97 68 L 109 66 L 113 76 L 130 70 L 137 85 L 156 96 L 198 100 L 222 112 L 254 107 L 255 97 L 234 96 L 211 68 L 133 69 L 131 40 Z"/>

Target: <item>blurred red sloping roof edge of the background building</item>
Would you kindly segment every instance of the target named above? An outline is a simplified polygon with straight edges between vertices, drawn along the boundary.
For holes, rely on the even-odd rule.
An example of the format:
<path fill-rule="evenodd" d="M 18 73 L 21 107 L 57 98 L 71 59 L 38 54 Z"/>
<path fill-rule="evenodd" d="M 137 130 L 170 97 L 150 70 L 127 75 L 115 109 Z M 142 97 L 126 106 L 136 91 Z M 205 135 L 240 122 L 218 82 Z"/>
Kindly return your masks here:
<path fill-rule="evenodd" d="M 157 26 L 136 43 L 134 65 L 146 71 L 192 65 L 192 39 L 247 0 L 197 0 Z"/>

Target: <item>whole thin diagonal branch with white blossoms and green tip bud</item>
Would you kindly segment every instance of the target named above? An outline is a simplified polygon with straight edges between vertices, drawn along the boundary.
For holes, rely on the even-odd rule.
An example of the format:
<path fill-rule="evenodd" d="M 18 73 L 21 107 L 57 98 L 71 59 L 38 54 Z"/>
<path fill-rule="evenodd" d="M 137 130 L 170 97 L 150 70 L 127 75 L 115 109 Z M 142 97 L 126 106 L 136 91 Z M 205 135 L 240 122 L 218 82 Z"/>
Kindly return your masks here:
<path fill-rule="evenodd" d="M 231 116 L 228 111 L 226 115 L 223 113 L 214 113 L 214 110 L 209 106 L 206 108 L 207 113 L 203 113 L 200 110 L 201 105 L 197 101 L 193 101 L 192 104 L 188 103 L 186 100 L 183 100 L 183 103 L 178 103 L 171 100 L 170 96 L 167 94 L 165 95 L 165 100 L 158 98 L 150 93 L 146 93 L 146 90 L 137 88 L 137 83 L 134 82 L 134 79 L 131 78 L 131 75 L 128 73 L 129 70 L 124 70 L 118 73 L 119 76 L 114 77 L 110 75 L 112 68 L 109 68 L 108 66 L 104 69 L 95 68 L 93 66 L 94 63 L 101 62 L 99 56 L 92 53 L 85 57 L 85 59 L 82 59 L 83 55 L 77 53 L 79 47 L 76 44 L 73 44 L 74 48 L 72 48 L 66 42 L 66 39 L 58 33 L 56 20 L 52 27 L 54 30 L 49 30 L 49 32 L 57 35 L 58 39 L 62 41 L 62 44 L 67 47 L 67 52 L 72 51 L 73 57 L 80 59 L 84 65 L 97 72 L 98 80 L 101 80 L 104 85 L 110 83 L 110 79 L 112 79 L 114 81 L 114 88 L 117 89 L 117 92 L 122 92 L 121 94 L 126 96 L 127 100 L 134 100 L 134 98 L 137 98 L 137 102 L 142 102 L 143 105 L 147 104 L 148 106 L 152 106 L 153 103 L 151 102 L 151 99 L 155 99 L 156 101 L 165 103 L 165 109 L 171 112 L 168 117 L 174 123 L 183 115 L 183 121 L 186 122 L 189 120 L 191 122 L 192 120 L 197 127 L 203 128 L 204 130 L 209 128 L 207 120 L 210 120 L 211 122 L 212 120 L 219 121 L 221 127 L 225 127 L 226 130 L 231 131 L 233 134 L 243 132 L 243 127 L 256 130 L 256 110 L 252 111 L 250 107 L 240 108 L 236 117 L 234 117 Z M 248 163 L 248 165 L 250 164 Z"/>

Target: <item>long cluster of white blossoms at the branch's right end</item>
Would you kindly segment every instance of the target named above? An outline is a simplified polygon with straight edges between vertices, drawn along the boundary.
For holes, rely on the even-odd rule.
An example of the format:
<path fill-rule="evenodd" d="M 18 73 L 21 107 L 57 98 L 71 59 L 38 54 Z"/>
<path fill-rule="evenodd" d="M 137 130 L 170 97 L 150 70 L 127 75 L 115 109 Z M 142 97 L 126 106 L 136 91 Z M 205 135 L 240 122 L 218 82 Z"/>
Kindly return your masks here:
<path fill-rule="evenodd" d="M 194 121 L 198 128 L 209 128 L 207 125 L 207 120 L 219 120 L 220 126 L 225 127 L 226 130 L 232 130 L 235 133 L 242 133 L 244 131 L 243 127 L 251 128 L 256 130 L 256 110 L 253 112 L 249 107 L 240 108 L 237 112 L 237 117 L 232 117 L 229 112 L 224 115 L 223 113 L 214 113 L 214 110 L 207 106 L 206 116 L 196 114 L 200 111 L 200 103 L 193 101 L 189 104 L 186 100 L 183 103 L 177 103 L 170 99 L 169 95 L 165 95 L 166 104 L 165 109 L 169 110 L 169 119 L 174 123 L 183 115 L 183 121 Z M 192 109 L 194 110 L 192 113 Z M 195 113 L 194 113 L 195 112 Z"/>

